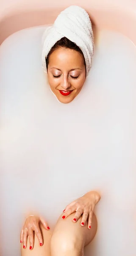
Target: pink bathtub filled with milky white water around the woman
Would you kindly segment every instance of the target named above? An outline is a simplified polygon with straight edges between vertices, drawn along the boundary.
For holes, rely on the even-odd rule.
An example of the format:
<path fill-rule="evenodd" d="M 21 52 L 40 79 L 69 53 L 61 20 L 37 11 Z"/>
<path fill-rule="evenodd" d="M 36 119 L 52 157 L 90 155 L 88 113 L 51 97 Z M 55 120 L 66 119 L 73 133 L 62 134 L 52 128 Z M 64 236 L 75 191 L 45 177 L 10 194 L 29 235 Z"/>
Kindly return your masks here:
<path fill-rule="evenodd" d="M 41 38 L 71 4 L 79 5 L 1 3 L 1 256 L 20 255 L 29 210 L 53 228 L 67 204 L 94 189 L 98 229 L 85 256 L 136 255 L 136 2 L 80 2 L 96 49 L 89 80 L 63 105 L 44 86 Z"/>

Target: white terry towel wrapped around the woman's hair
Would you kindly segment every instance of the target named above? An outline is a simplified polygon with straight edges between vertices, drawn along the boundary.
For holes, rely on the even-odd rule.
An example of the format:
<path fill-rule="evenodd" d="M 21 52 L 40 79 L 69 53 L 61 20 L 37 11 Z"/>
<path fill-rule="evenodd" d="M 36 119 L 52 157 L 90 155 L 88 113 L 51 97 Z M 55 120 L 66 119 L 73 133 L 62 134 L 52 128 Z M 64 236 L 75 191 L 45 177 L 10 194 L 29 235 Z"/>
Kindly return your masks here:
<path fill-rule="evenodd" d="M 83 8 L 69 6 L 58 15 L 53 26 L 48 27 L 44 32 L 42 63 L 45 72 L 47 72 L 46 58 L 48 53 L 54 44 L 63 37 L 74 42 L 82 50 L 86 61 L 86 75 L 88 75 L 94 52 L 94 37 L 89 15 Z"/>

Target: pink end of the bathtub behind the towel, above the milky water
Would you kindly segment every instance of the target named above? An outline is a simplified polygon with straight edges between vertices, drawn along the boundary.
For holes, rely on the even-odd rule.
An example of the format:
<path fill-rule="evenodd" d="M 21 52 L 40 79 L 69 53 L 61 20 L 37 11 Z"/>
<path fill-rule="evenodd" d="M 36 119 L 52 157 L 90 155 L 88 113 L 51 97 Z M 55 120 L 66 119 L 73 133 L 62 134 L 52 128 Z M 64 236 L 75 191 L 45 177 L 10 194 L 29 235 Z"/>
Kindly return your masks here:
<path fill-rule="evenodd" d="M 72 4 L 85 8 L 97 28 L 121 32 L 136 44 L 136 0 L 1 0 L 0 44 L 20 29 L 53 23 Z"/>

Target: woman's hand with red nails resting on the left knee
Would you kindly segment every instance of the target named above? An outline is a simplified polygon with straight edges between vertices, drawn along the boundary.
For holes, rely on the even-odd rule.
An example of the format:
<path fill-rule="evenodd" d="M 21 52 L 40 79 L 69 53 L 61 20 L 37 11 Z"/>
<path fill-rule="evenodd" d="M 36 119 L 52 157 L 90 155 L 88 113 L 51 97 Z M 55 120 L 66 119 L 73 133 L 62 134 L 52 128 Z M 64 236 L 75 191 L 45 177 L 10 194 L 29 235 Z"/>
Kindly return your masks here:
<path fill-rule="evenodd" d="M 42 234 L 41 234 L 41 230 L 39 228 L 40 221 L 46 230 L 50 230 L 50 227 L 48 226 L 48 224 L 44 220 L 44 218 L 40 218 L 38 216 L 29 216 L 25 220 L 25 224 L 22 228 L 21 235 L 20 235 L 20 243 L 23 243 L 24 249 L 27 247 L 27 238 L 28 237 L 29 237 L 29 243 L 30 243 L 30 250 L 33 249 L 33 245 L 34 245 L 33 231 L 35 232 L 35 234 L 39 240 L 40 246 L 43 245 Z"/>

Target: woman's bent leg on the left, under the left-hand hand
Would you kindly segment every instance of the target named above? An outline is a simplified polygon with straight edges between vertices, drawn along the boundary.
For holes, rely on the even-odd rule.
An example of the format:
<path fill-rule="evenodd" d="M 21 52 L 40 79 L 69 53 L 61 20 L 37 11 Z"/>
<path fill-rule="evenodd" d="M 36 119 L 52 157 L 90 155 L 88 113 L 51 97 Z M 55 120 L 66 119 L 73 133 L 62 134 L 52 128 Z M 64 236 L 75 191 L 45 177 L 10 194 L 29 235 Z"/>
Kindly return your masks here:
<path fill-rule="evenodd" d="M 39 224 L 40 230 L 43 237 L 43 245 L 40 246 L 37 236 L 34 235 L 34 247 L 30 250 L 29 239 L 27 241 L 26 249 L 23 249 L 23 244 L 21 244 L 21 256 L 51 256 L 50 254 L 50 239 L 52 236 L 51 230 L 45 230 L 43 225 Z"/>

